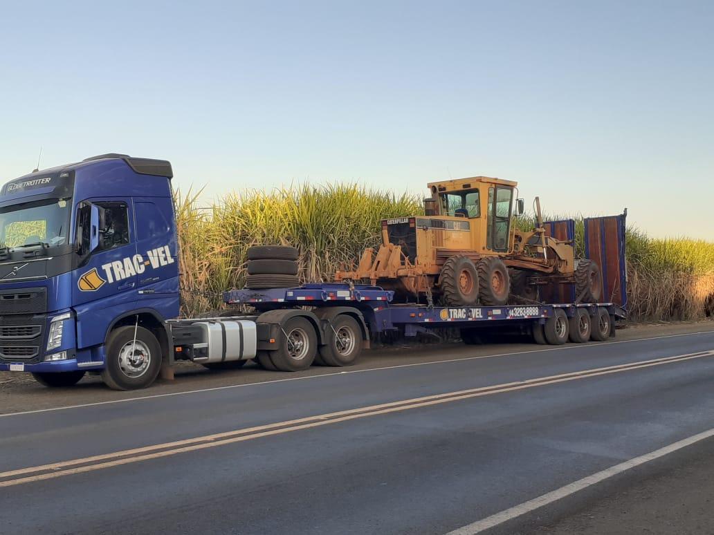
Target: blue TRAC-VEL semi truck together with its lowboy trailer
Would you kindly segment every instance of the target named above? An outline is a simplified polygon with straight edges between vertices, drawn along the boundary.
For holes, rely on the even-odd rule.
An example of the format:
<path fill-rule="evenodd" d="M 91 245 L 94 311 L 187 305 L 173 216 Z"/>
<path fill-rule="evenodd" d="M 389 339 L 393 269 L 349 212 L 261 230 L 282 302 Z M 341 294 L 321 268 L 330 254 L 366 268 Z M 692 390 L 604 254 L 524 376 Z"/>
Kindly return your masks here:
<path fill-rule="evenodd" d="M 616 297 L 610 302 L 398 305 L 380 287 L 328 283 L 231 290 L 226 303 L 254 312 L 177 319 L 172 176 L 168 161 L 111 153 L 3 186 L 0 370 L 30 372 L 49 387 L 93 373 L 111 388 L 138 389 L 162 370 L 171 376 L 177 360 L 211 368 L 256 360 L 296 371 L 315 362 L 351 365 L 372 335 L 391 330 L 413 336 L 456 327 L 475 343 L 478 332 L 515 327 L 536 342 L 562 344 L 604 340 L 625 317 L 622 215 L 613 216 L 621 219 L 612 232 L 608 218 L 590 220 L 594 230 L 585 236 L 586 253 L 609 255 L 598 258 L 605 268 L 614 262 L 610 275 L 603 270 L 605 290 Z"/>

